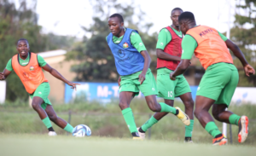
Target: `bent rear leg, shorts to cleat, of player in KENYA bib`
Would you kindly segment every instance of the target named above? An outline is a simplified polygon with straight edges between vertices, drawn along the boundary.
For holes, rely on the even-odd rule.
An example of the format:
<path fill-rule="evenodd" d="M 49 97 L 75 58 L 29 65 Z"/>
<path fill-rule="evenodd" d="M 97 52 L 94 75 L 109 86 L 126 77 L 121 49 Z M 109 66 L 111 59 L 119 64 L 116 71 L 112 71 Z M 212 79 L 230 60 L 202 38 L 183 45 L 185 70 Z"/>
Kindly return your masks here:
<path fill-rule="evenodd" d="M 232 65 L 233 66 L 233 65 Z M 218 97 L 218 101 L 212 107 L 212 115 L 220 122 L 228 124 L 236 124 L 239 127 L 238 130 L 238 142 L 245 142 L 248 135 L 248 118 L 247 116 L 239 116 L 230 111 L 226 111 L 229 107 L 230 101 L 236 90 L 236 85 L 239 81 L 239 75 L 236 67 L 233 66 L 232 76 L 230 82 L 225 85 L 224 90 Z"/>

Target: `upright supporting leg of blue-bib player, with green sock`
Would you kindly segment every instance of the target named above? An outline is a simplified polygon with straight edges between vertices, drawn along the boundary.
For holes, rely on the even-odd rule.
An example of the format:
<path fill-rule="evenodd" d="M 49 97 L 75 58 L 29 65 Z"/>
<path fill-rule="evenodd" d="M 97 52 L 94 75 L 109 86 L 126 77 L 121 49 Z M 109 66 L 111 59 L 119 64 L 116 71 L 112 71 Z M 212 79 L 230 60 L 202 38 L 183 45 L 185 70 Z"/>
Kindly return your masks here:
<path fill-rule="evenodd" d="M 131 99 L 134 97 L 133 92 L 130 91 L 122 91 L 119 93 L 119 107 L 122 110 L 122 114 L 125 118 L 125 123 L 127 124 L 131 136 L 133 136 L 134 139 L 139 137 L 137 133 L 137 126 L 134 121 L 134 116 L 130 107 Z"/>

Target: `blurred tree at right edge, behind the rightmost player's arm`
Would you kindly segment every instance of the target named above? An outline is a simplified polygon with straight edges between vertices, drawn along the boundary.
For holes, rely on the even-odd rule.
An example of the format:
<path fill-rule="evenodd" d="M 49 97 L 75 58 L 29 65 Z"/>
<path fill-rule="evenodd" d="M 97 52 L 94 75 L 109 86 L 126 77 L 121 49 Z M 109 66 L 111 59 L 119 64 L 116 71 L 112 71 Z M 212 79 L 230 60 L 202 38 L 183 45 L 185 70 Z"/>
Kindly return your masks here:
<path fill-rule="evenodd" d="M 236 5 L 235 26 L 230 30 L 230 39 L 234 41 L 248 63 L 256 69 L 256 0 L 239 0 Z M 254 47 L 254 49 L 253 49 Z M 247 78 L 243 72 L 240 61 L 235 58 L 234 64 L 239 70 L 239 86 L 256 86 L 256 76 Z"/>

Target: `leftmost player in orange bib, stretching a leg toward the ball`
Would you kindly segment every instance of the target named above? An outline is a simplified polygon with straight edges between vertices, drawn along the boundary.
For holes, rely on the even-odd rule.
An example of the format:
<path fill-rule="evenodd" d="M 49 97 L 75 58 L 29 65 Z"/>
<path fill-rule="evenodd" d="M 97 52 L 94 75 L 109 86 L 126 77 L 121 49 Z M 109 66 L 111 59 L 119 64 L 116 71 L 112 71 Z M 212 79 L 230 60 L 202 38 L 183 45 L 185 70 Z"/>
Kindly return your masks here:
<path fill-rule="evenodd" d="M 73 126 L 56 115 L 48 99 L 50 88 L 48 80 L 44 77 L 42 68 L 55 78 L 72 86 L 73 89 L 76 89 L 77 84 L 63 78 L 59 72 L 44 61 L 42 56 L 29 52 L 29 43 L 25 38 L 19 39 L 16 48 L 18 54 L 14 55 L 9 60 L 3 72 L 0 72 L 0 80 L 6 79 L 12 71 L 15 71 L 24 85 L 26 92 L 29 93 L 32 98 L 33 109 L 38 113 L 39 118 L 42 119 L 44 125 L 49 130 L 49 136 L 56 136 L 50 120 L 62 129 L 72 133 Z"/>

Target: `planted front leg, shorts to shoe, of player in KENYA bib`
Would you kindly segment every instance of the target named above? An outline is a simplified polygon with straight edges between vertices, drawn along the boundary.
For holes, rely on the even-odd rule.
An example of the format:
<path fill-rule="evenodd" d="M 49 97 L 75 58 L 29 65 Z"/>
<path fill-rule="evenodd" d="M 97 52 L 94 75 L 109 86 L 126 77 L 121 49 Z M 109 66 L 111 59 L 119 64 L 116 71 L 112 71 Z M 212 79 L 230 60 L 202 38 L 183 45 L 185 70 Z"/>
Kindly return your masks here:
<path fill-rule="evenodd" d="M 208 66 L 199 84 L 195 100 L 195 117 L 207 132 L 214 137 L 213 145 L 223 145 L 227 142 L 218 130 L 208 110 L 221 95 L 224 86 L 230 82 L 232 71 L 228 64 L 218 63 Z"/>

